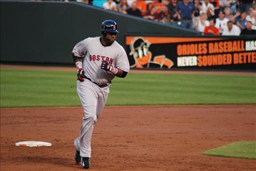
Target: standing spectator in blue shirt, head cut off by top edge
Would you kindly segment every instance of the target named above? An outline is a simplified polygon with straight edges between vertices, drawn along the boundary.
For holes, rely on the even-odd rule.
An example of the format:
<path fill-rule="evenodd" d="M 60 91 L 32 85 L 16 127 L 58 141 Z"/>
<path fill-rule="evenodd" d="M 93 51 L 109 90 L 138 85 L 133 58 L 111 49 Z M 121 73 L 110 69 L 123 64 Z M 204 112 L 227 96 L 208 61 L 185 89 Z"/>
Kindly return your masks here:
<path fill-rule="evenodd" d="M 181 20 L 181 26 L 192 29 L 192 12 L 196 10 L 193 2 L 183 0 L 177 6 L 177 17 Z"/>

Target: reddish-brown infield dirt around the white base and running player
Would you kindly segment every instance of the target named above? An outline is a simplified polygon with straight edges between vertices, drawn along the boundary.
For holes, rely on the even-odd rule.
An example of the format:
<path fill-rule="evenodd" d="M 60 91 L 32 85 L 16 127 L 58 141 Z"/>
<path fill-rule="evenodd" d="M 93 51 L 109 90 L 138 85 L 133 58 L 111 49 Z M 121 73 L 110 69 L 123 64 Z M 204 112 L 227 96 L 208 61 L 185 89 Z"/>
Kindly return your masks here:
<path fill-rule="evenodd" d="M 255 160 L 200 155 L 256 140 L 256 105 L 105 107 L 90 170 L 255 170 Z M 1 109 L 1 170 L 82 170 L 73 160 L 81 107 Z M 52 147 L 16 147 L 25 140 Z"/>

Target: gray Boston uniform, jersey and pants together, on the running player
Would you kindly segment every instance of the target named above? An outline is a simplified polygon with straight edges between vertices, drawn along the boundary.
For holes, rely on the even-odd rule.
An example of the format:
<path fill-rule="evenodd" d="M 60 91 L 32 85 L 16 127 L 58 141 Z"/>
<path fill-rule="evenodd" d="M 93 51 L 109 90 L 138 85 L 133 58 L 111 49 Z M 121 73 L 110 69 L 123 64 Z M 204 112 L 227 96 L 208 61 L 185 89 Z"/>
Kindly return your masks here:
<path fill-rule="evenodd" d="M 100 42 L 100 37 L 88 37 L 80 41 L 75 45 L 72 53 L 75 56 L 84 57 L 82 68 L 85 76 L 91 80 L 77 81 L 77 94 L 84 109 L 84 118 L 82 118 L 80 136 L 74 141 L 76 149 L 80 151 L 80 156 L 90 157 L 90 139 L 93 127 L 106 104 L 109 94 L 109 85 L 100 87 L 93 82 L 106 84 L 114 78 L 112 73 L 101 69 L 101 62 L 105 60 L 115 68 L 125 72 L 129 72 L 130 65 L 125 50 L 117 41 L 104 47 Z"/>

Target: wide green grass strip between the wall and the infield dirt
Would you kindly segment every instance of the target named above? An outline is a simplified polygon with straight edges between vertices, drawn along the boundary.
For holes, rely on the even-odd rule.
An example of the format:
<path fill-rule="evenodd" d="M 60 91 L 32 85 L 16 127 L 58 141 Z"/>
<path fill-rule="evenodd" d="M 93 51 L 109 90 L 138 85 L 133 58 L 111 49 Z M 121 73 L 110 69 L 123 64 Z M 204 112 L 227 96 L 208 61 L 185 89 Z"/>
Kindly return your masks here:
<path fill-rule="evenodd" d="M 107 105 L 255 104 L 255 76 L 129 73 Z M 1 69 L 1 107 L 80 106 L 76 72 Z"/>

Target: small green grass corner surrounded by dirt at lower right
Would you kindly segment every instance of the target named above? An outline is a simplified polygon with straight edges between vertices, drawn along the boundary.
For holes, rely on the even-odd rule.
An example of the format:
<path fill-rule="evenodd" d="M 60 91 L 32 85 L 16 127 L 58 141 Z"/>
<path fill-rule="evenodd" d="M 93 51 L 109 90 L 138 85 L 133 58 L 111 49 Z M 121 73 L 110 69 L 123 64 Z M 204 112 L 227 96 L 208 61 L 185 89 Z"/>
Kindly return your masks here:
<path fill-rule="evenodd" d="M 256 141 L 240 141 L 201 153 L 208 156 L 256 159 Z"/>

